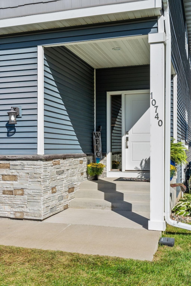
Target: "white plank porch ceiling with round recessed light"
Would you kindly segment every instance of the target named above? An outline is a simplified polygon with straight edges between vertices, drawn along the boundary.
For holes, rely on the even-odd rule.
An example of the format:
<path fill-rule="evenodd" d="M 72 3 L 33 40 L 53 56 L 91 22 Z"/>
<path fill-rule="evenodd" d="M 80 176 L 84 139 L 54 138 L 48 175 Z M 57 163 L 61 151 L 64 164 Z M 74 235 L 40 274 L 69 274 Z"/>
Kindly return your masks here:
<path fill-rule="evenodd" d="M 148 36 L 66 45 L 94 69 L 150 64 Z M 113 48 L 121 48 L 114 51 Z"/>

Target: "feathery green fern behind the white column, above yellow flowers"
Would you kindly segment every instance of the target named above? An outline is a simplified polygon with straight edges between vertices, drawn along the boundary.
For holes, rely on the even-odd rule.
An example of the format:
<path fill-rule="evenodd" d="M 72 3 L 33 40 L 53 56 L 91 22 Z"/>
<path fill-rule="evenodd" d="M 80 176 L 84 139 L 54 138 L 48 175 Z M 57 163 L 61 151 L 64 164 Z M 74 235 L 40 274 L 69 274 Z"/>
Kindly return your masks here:
<path fill-rule="evenodd" d="M 175 162 L 175 164 L 186 164 L 187 156 L 185 150 L 187 149 L 182 142 L 173 143 L 175 139 L 172 138 L 170 142 L 170 159 Z"/>

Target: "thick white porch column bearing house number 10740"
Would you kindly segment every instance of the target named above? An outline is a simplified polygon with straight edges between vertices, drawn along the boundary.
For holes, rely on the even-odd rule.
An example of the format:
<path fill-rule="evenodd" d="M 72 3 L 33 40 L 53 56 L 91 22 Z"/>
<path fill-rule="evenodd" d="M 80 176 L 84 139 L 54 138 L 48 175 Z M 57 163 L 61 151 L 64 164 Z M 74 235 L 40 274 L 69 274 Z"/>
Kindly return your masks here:
<path fill-rule="evenodd" d="M 150 43 L 150 220 L 148 229 L 165 230 L 164 100 L 165 33 L 149 34 Z"/>

